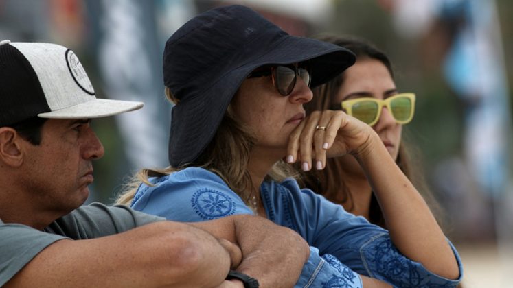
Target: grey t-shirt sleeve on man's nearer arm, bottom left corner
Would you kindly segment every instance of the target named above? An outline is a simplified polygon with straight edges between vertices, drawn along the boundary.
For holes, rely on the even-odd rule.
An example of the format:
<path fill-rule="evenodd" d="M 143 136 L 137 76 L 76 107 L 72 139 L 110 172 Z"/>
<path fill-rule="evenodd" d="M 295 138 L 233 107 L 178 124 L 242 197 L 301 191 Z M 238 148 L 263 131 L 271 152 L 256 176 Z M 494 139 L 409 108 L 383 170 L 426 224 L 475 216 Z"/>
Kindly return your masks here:
<path fill-rule="evenodd" d="M 65 238 L 29 226 L 0 221 L 0 287 L 48 245 Z"/>

